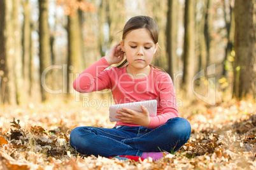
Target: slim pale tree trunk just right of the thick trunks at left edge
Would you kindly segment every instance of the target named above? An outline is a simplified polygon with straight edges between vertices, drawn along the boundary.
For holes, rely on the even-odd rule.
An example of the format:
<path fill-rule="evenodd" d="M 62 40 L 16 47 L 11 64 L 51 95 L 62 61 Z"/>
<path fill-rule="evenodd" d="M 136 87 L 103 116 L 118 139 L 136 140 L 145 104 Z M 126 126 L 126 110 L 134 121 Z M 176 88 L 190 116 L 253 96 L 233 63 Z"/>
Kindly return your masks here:
<path fill-rule="evenodd" d="M 31 94 L 31 6 L 28 0 L 22 1 L 24 9 L 24 24 L 23 24 L 23 77 L 24 77 L 24 94 L 29 98 Z"/>

